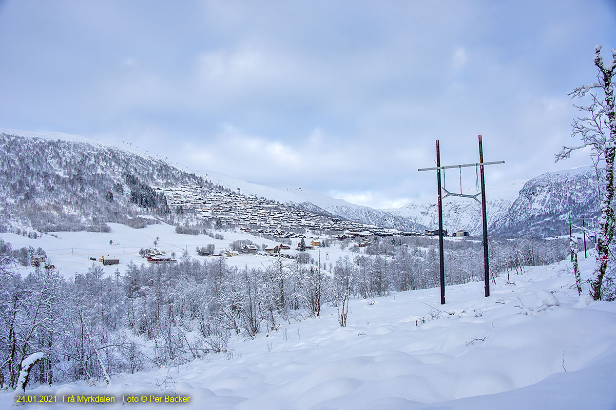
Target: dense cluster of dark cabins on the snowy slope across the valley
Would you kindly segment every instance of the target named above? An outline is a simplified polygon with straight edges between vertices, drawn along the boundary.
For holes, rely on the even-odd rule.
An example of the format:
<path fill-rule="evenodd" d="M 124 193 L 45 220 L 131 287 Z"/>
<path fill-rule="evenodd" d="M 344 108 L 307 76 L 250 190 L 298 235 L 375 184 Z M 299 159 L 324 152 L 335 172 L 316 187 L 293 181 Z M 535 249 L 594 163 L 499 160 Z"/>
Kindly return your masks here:
<path fill-rule="evenodd" d="M 237 191 L 223 191 L 203 186 L 182 184 L 179 187 L 155 187 L 155 191 L 163 192 L 172 212 L 184 216 L 192 214 L 202 221 L 209 221 L 216 229 L 268 239 L 269 244 L 261 247 L 254 243 L 246 243 L 235 249 L 217 243 L 208 253 L 200 256 L 224 256 L 232 258 L 240 254 L 256 256 L 280 256 L 295 258 L 296 251 L 310 251 L 329 246 L 330 240 L 350 240 L 349 246 L 357 246 L 359 251 L 370 245 L 376 237 L 400 236 L 438 236 L 439 230 L 425 229 L 424 232 L 404 232 L 398 229 L 378 227 L 346 221 L 325 213 L 319 214 L 304 210 L 294 205 L 286 205 L 275 200 L 265 199 L 257 195 Z M 177 231 L 176 231 L 177 232 Z M 444 229 L 447 236 L 447 230 Z M 451 234 L 452 237 L 468 237 L 469 232 L 460 230 Z M 245 242 L 251 242 L 245 240 Z M 272 243 L 274 242 L 274 243 Z M 229 241 L 225 242 L 229 245 Z M 118 245 L 115 243 L 113 245 Z M 169 254 L 168 254 L 169 253 Z M 139 251 L 139 256 L 148 264 L 164 264 L 177 262 L 176 253 L 163 250 L 157 246 L 145 246 Z M 113 254 L 103 254 L 100 257 L 89 257 L 103 266 L 117 265 L 126 262 Z M 44 263 L 44 258 L 42 259 Z M 32 261 L 33 266 L 37 263 Z"/>

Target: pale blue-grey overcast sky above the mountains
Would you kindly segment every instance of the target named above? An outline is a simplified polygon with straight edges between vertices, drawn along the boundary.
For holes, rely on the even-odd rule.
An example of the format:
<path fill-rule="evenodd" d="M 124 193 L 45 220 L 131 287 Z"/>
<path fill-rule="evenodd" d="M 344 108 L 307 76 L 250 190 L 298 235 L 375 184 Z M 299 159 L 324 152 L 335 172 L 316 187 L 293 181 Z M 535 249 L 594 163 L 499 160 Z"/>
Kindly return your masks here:
<path fill-rule="evenodd" d="M 434 195 L 417 168 L 437 139 L 463 164 L 482 134 L 506 161 L 488 183 L 589 164 L 554 154 L 575 143 L 567 93 L 594 81 L 594 46 L 616 47 L 615 4 L 0 0 L 0 128 L 401 207 Z"/>

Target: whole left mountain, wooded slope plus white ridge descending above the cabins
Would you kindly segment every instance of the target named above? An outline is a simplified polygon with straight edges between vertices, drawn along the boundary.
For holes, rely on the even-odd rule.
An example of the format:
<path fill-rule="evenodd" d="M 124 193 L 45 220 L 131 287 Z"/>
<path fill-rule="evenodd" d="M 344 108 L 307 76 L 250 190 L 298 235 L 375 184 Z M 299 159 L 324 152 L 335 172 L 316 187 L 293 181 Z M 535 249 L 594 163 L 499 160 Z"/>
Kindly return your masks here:
<path fill-rule="evenodd" d="M 315 192 L 276 189 L 214 171 L 189 173 L 160 157 L 140 154 L 132 145 L 83 136 L 0 130 L 0 162 L 4 167 L 0 173 L 0 194 L 4 198 L 0 200 L 0 230 L 4 231 L 17 227 L 41 232 L 100 231 L 105 229 L 105 222 L 130 223 L 136 212 L 134 205 L 139 204 L 131 199 L 134 190 L 128 186 L 127 175 L 142 181 L 143 188 L 150 191 L 152 187 L 203 186 L 256 195 L 362 224 L 401 231 L 424 229 L 410 219 Z M 158 210 L 158 205 L 148 208 Z"/>

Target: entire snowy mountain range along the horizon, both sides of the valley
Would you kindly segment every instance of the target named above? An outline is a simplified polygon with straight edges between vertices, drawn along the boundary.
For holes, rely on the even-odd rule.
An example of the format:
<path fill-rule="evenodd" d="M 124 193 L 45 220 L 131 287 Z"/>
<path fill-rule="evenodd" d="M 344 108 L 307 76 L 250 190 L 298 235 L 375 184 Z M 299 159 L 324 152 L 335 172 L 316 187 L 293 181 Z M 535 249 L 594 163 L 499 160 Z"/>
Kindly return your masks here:
<path fill-rule="evenodd" d="M 333 199 L 301 187 L 274 188 L 214 171 L 190 173 L 166 159 L 148 156 L 131 144 L 103 143 L 63 133 L 0 130 L 0 229 L 25 226 L 39 231 L 104 229 L 127 223 L 135 214 L 126 175 L 150 186 L 182 184 L 257 195 L 302 210 L 400 231 L 437 226 L 436 198 L 399 209 L 375 210 Z M 495 235 L 551 236 L 568 233 L 569 215 L 596 216 L 599 209 L 594 169 L 547 173 L 530 181 L 488 186 L 488 229 Z M 127 186 L 124 186 L 125 188 Z M 474 195 L 471 189 L 464 194 Z M 115 200 L 109 200 L 113 195 Z M 436 196 L 436 195 L 435 195 Z M 481 208 L 468 198 L 444 199 L 444 225 L 450 231 L 481 232 Z"/>

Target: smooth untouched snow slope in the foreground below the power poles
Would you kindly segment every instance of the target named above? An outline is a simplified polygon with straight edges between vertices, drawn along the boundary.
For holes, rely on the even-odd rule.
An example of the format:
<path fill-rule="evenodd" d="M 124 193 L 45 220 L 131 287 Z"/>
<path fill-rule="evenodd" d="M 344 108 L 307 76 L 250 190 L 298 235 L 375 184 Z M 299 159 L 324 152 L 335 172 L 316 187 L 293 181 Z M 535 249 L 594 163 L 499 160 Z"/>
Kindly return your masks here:
<path fill-rule="evenodd" d="M 582 259 L 583 277 L 591 263 Z M 326 307 L 321 318 L 232 340 L 208 360 L 116 374 L 110 385 L 28 390 L 57 401 L 25 407 L 107 395 L 116 401 L 102 408 L 155 409 L 182 396 L 185 408 L 208 410 L 616 409 L 616 304 L 578 297 L 568 262 L 527 268 L 511 282 L 497 278 L 490 298 L 483 283 L 448 286 L 444 306 L 438 289 L 355 299 L 346 328 Z M 122 403 L 123 395 L 148 403 Z M 13 401 L 0 393 L 1 408 Z"/>

